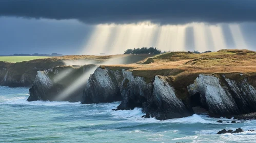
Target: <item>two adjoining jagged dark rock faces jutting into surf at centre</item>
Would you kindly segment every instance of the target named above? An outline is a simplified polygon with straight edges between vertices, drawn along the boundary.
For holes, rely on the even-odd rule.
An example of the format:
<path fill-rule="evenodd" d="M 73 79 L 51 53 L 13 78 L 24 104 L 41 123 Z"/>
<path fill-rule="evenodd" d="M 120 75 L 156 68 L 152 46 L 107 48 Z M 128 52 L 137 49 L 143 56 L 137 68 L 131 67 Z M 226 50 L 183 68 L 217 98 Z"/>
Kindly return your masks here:
<path fill-rule="evenodd" d="M 155 76 L 153 82 L 146 83 L 144 78 L 134 77 L 131 71 L 124 71 L 124 78 L 121 86 L 123 100 L 117 109 L 141 107 L 143 112 L 157 120 L 192 115 L 193 112 L 176 97 L 174 88 L 164 77 Z M 125 83 L 125 80 L 129 82 Z"/>

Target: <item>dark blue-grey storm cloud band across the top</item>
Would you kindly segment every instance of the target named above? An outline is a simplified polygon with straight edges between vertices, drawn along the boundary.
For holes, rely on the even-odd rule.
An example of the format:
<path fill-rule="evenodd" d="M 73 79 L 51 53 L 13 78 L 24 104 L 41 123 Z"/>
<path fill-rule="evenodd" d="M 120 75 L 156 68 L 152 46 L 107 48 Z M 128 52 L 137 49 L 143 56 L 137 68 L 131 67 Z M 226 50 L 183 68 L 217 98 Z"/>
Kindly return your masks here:
<path fill-rule="evenodd" d="M 254 0 L 1 0 L 0 16 L 78 19 L 85 23 L 161 24 L 256 21 Z"/>

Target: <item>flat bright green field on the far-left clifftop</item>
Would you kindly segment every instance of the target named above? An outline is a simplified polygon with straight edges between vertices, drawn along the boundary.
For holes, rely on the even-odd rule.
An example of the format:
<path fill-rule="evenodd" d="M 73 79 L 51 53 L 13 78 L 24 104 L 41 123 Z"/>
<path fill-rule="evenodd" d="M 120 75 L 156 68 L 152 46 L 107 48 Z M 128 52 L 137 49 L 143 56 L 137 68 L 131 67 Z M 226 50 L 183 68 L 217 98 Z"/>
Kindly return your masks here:
<path fill-rule="evenodd" d="M 22 61 L 29 61 L 34 59 L 45 59 L 51 57 L 42 57 L 42 56 L 0 56 L 0 61 L 4 62 L 22 62 Z"/>

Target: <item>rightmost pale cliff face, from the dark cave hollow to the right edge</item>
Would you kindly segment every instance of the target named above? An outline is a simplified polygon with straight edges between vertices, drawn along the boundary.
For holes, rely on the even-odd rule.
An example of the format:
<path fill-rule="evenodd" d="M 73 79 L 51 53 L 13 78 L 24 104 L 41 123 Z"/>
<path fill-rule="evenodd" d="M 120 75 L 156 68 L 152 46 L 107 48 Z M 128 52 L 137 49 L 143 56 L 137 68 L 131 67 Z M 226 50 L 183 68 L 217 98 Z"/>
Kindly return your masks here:
<path fill-rule="evenodd" d="M 238 76 L 240 74 L 237 74 Z M 256 111 L 256 89 L 240 75 L 232 80 L 225 74 L 199 75 L 188 87 L 190 96 L 198 96 L 199 105 L 209 110 L 212 116 L 231 116 Z M 236 77 L 238 79 L 239 77 Z"/>

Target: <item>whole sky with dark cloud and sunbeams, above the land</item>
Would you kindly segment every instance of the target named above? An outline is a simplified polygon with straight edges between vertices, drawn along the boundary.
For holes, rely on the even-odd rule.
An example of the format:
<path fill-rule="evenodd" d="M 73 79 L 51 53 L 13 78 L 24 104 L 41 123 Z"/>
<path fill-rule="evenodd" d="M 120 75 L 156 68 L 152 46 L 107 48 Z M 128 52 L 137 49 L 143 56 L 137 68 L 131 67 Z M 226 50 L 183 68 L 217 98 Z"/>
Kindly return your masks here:
<path fill-rule="evenodd" d="M 256 50 L 253 0 L 1 0 L 0 55 Z"/>

